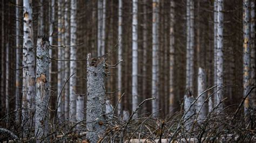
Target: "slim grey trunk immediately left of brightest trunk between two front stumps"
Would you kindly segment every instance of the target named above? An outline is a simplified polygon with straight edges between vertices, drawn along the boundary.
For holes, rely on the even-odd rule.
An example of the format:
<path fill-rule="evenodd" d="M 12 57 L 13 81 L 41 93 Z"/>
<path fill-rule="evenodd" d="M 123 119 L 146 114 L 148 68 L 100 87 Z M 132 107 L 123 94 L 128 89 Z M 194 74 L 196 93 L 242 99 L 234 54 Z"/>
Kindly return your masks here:
<path fill-rule="evenodd" d="M 68 0 L 65 0 L 65 12 L 64 12 L 64 23 L 65 23 L 65 45 L 70 45 L 70 19 L 69 19 L 69 10 L 70 10 L 70 3 Z M 70 48 L 65 48 L 65 58 L 70 58 Z M 70 76 L 70 61 L 65 61 L 65 79 L 68 79 Z M 64 103 L 64 112 L 65 112 L 65 119 L 69 118 L 69 81 L 65 85 L 65 103 Z"/>

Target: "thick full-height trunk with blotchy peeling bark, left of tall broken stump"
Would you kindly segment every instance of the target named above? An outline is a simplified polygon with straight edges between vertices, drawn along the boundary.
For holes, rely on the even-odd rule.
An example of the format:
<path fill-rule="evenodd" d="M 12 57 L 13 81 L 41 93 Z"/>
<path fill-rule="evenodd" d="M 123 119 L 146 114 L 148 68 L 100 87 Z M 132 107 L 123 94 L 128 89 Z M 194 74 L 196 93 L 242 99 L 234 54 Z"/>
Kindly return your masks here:
<path fill-rule="evenodd" d="M 35 112 L 36 75 L 31 1 L 23 1 L 23 121 L 32 127 Z"/>

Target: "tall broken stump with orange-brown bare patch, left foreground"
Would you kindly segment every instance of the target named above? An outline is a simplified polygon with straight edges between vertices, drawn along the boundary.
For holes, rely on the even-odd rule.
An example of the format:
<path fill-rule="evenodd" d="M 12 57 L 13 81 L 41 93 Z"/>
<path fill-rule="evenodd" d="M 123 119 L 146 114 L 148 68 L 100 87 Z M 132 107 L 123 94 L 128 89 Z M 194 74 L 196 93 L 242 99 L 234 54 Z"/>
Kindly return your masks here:
<path fill-rule="evenodd" d="M 37 39 L 36 53 L 36 127 L 37 142 L 42 141 L 49 133 L 49 40 L 45 36 Z"/>

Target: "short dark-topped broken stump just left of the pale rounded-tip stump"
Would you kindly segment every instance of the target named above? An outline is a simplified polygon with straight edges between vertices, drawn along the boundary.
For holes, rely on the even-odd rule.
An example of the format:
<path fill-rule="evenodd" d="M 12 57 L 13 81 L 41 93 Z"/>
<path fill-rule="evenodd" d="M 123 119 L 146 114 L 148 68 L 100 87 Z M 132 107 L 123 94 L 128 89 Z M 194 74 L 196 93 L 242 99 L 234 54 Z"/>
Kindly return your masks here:
<path fill-rule="evenodd" d="M 191 94 L 191 91 L 188 91 L 184 96 L 184 125 L 187 131 L 190 131 L 192 125 L 190 124 L 194 120 L 194 114 L 196 113 L 196 106 L 192 105 L 194 102 L 194 97 Z M 193 123 L 193 122 L 192 122 Z"/>

